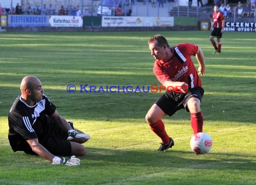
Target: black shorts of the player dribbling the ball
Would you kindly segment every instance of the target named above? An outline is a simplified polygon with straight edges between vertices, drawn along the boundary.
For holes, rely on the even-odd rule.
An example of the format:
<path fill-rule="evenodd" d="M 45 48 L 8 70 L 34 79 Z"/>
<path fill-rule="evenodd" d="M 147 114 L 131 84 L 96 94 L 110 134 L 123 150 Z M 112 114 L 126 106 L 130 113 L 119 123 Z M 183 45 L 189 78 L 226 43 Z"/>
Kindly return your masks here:
<path fill-rule="evenodd" d="M 201 87 L 191 88 L 187 93 L 169 93 L 166 91 L 162 97 L 160 97 L 155 104 L 158 105 L 165 114 L 172 116 L 177 110 L 185 109 L 189 112 L 187 108 L 187 102 L 191 97 L 196 97 L 200 101 L 203 97 L 204 90 Z"/>

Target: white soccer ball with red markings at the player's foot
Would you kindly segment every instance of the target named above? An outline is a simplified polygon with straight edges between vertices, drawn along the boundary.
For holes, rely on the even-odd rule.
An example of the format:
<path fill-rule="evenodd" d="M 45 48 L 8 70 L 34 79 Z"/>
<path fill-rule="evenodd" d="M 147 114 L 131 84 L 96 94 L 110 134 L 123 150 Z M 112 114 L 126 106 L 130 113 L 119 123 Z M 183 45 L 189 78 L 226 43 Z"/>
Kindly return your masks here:
<path fill-rule="evenodd" d="M 195 154 L 206 154 L 212 148 L 212 138 L 205 132 L 196 133 L 190 140 L 190 147 Z"/>

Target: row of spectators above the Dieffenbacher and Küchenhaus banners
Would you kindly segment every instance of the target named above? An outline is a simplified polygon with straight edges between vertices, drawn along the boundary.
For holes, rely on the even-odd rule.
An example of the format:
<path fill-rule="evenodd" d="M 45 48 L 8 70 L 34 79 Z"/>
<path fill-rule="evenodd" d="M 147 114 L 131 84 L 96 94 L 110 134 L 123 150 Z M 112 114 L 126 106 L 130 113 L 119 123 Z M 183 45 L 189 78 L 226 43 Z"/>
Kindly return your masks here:
<path fill-rule="evenodd" d="M 61 6 L 59 9 L 53 7 L 53 4 L 43 4 L 43 6 L 31 6 L 26 4 L 22 7 L 19 3 L 12 9 L 4 9 L 0 4 L 0 15 L 13 14 L 13 15 L 73 15 L 73 16 L 89 16 L 88 7 L 82 10 L 79 6 Z"/>

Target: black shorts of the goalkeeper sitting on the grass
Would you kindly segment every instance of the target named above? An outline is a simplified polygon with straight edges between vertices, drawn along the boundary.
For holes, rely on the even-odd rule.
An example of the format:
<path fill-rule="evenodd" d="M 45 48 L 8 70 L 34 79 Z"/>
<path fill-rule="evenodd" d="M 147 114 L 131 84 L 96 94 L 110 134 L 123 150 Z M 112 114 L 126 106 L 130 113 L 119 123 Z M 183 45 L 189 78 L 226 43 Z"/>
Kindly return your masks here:
<path fill-rule="evenodd" d="M 51 121 L 50 124 L 55 124 Z M 70 126 L 74 129 L 73 123 L 69 122 Z M 54 132 L 39 140 L 39 143 L 44 146 L 53 155 L 70 156 L 71 143 L 67 140 L 68 133 L 63 131 L 57 124 L 55 124 Z M 31 148 L 30 148 L 31 149 Z M 24 151 L 26 154 L 36 154 L 32 150 Z M 37 155 L 37 154 L 36 154 Z"/>

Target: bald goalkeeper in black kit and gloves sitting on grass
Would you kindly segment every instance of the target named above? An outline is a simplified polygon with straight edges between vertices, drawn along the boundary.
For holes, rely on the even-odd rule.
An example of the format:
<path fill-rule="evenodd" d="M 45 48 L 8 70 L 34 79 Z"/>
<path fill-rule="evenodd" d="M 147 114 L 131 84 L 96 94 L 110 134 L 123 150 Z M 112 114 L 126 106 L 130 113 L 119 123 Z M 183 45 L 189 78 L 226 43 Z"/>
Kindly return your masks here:
<path fill-rule="evenodd" d="M 75 156 L 85 155 L 81 144 L 90 136 L 58 114 L 37 77 L 24 77 L 20 89 L 21 95 L 8 115 L 8 138 L 13 151 L 37 154 L 53 164 L 79 165 L 80 159 Z"/>

